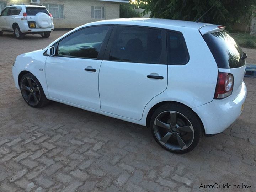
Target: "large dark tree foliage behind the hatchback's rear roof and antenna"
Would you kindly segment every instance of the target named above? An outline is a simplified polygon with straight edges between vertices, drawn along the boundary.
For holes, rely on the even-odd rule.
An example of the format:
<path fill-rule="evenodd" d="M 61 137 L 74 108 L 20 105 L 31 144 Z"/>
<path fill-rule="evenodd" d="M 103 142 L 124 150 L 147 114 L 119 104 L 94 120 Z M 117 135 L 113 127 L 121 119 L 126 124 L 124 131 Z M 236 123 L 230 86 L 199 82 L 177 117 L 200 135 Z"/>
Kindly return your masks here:
<path fill-rule="evenodd" d="M 145 7 L 151 17 L 196 21 L 214 6 L 200 22 L 230 26 L 241 16 L 251 15 L 256 0 L 137 0 L 138 7 Z"/>

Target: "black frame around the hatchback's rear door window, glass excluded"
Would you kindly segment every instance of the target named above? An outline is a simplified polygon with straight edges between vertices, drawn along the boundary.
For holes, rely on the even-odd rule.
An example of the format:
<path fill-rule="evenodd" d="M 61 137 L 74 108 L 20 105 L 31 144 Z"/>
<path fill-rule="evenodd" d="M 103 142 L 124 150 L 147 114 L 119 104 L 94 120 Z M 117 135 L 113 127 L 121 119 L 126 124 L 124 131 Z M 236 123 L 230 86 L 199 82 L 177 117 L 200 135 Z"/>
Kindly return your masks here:
<path fill-rule="evenodd" d="M 145 63 L 145 62 L 130 62 L 130 61 L 118 61 L 118 60 L 111 60 L 110 58 L 110 51 L 114 42 L 114 39 L 116 37 L 116 30 L 117 27 L 138 27 L 138 28 L 148 28 L 148 29 L 154 29 L 154 30 L 161 30 L 162 32 L 162 51 L 161 51 L 161 58 L 159 63 Z M 112 61 L 112 62 L 126 62 L 126 63 L 144 63 L 144 64 L 160 64 L 160 65 L 168 65 L 167 62 L 167 44 L 166 44 L 166 30 L 164 28 L 157 28 L 157 27 L 148 27 L 148 26 L 139 26 L 139 25 L 115 25 L 113 32 L 111 34 L 110 40 L 108 42 L 104 58 L 103 60 Z"/>

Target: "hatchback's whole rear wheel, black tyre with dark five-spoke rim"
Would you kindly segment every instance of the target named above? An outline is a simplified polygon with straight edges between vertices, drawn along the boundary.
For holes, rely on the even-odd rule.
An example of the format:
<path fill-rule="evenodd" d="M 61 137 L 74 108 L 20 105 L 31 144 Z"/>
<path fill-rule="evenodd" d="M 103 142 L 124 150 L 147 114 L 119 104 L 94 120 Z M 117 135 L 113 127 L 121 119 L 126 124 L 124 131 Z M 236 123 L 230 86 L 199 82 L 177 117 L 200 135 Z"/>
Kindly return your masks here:
<path fill-rule="evenodd" d="M 172 153 L 187 153 L 201 140 L 203 124 L 196 113 L 179 103 L 169 103 L 155 110 L 150 119 L 156 142 Z"/>

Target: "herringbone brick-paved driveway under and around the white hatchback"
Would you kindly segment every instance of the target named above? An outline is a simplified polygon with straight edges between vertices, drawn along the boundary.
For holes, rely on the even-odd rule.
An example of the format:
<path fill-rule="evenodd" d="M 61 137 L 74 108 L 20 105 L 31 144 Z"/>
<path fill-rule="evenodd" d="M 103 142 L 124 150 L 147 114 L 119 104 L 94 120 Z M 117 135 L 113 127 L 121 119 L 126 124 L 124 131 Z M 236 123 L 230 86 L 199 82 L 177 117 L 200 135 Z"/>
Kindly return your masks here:
<path fill-rule="evenodd" d="M 15 57 L 64 33 L 0 37 L 1 192 L 183 192 L 198 191 L 201 183 L 244 183 L 256 191 L 256 78 L 245 79 L 245 110 L 233 125 L 203 138 L 191 153 L 172 154 L 145 127 L 57 102 L 42 109 L 26 105 L 12 80 Z"/>

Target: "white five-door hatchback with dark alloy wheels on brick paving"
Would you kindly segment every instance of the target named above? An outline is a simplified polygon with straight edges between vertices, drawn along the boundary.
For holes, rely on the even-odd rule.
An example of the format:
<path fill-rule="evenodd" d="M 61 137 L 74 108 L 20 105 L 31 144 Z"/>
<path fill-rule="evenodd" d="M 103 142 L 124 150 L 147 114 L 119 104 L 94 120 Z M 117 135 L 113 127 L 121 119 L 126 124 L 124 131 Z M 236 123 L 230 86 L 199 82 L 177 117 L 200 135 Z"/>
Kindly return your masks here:
<path fill-rule="evenodd" d="M 53 100 L 147 126 L 163 148 L 186 153 L 243 109 L 247 56 L 224 28 L 146 18 L 88 23 L 19 55 L 15 85 L 31 107 Z"/>

